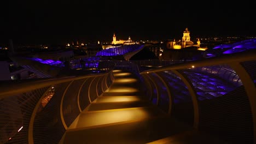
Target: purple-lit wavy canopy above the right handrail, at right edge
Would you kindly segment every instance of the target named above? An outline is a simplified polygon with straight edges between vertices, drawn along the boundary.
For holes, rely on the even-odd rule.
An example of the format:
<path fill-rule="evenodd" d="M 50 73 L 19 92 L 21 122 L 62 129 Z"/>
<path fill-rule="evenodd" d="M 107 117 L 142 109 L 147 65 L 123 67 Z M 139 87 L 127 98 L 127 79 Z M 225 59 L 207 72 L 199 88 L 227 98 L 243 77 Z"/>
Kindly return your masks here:
<path fill-rule="evenodd" d="M 213 49 L 208 49 L 206 52 L 207 52 L 207 57 L 214 57 L 214 56 L 246 51 L 250 49 L 256 49 L 256 38 L 238 41 L 232 44 L 217 45 L 213 47 Z"/>

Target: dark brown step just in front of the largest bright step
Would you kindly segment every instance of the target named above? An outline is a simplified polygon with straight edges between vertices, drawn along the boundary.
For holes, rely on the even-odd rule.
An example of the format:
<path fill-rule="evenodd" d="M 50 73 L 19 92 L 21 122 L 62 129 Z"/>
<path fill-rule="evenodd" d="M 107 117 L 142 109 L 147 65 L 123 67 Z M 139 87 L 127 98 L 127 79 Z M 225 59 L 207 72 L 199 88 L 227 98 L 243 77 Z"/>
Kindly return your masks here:
<path fill-rule="evenodd" d="M 114 123 L 104 127 L 67 130 L 64 143 L 144 144 L 190 129 L 188 125 L 164 116 L 143 121 Z"/>

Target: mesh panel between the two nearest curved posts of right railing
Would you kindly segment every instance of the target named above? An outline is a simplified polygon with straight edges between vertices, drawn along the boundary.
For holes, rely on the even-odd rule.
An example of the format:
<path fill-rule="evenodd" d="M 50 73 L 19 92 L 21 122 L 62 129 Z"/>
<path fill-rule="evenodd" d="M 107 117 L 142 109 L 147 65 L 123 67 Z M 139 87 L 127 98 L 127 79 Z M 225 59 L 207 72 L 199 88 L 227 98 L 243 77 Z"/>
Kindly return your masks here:
<path fill-rule="evenodd" d="M 234 143 L 250 143 L 253 140 L 251 107 L 245 89 L 234 85 L 230 77 L 237 76 L 230 67 L 213 66 L 211 71 L 199 69 L 180 70 L 191 82 L 197 94 L 200 109 L 199 129 Z M 209 70 L 205 70 L 209 71 Z M 205 72 L 203 71 L 203 72 Z M 234 75 L 235 74 L 235 75 Z"/>

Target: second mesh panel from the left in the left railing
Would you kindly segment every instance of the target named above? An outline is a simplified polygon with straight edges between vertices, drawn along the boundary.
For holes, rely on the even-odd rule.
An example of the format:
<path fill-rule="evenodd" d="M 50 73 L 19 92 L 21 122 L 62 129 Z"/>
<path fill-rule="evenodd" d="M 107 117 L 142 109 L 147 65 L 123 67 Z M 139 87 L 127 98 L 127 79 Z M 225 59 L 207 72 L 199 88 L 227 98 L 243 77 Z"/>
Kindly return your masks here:
<path fill-rule="evenodd" d="M 60 101 L 69 82 L 55 85 L 49 103 L 37 112 L 33 125 L 34 143 L 57 143 L 65 133 L 61 122 Z"/>

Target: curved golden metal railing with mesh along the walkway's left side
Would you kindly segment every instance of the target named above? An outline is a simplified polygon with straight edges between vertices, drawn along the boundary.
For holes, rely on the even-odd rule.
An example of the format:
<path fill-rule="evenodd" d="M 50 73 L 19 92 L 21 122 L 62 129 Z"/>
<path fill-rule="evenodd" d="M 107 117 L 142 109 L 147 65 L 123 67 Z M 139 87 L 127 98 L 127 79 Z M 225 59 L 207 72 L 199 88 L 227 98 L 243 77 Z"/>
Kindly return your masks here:
<path fill-rule="evenodd" d="M 106 70 L 101 74 L 2 81 L 0 143 L 58 143 L 79 113 L 112 84 L 113 67 Z"/>

